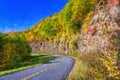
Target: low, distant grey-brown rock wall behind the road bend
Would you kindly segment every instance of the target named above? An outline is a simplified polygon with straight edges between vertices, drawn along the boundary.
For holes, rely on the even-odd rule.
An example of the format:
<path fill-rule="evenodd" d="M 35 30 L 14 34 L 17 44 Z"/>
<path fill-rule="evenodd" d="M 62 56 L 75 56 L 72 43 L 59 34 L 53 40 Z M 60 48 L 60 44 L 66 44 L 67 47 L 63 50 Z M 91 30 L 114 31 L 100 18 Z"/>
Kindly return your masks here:
<path fill-rule="evenodd" d="M 65 42 L 62 42 L 61 40 L 59 42 L 42 42 L 39 40 L 38 41 L 35 40 L 35 41 L 32 41 L 30 45 L 32 47 L 33 52 L 40 51 L 42 53 L 50 53 L 50 54 L 54 54 L 54 53 L 68 54 L 73 51 L 73 49 L 70 47 L 69 41 L 65 43 Z"/>

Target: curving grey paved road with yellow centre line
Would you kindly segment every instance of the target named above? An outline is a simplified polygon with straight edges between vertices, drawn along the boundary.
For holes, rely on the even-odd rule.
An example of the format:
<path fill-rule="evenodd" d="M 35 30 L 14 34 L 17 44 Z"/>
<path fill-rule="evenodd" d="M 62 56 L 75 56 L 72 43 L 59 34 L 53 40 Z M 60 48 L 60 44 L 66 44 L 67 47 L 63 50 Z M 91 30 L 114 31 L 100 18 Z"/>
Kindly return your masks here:
<path fill-rule="evenodd" d="M 73 65 L 72 58 L 55 56 L 49 63 L 0 76 L 0 80 L 66 80 Z"/>

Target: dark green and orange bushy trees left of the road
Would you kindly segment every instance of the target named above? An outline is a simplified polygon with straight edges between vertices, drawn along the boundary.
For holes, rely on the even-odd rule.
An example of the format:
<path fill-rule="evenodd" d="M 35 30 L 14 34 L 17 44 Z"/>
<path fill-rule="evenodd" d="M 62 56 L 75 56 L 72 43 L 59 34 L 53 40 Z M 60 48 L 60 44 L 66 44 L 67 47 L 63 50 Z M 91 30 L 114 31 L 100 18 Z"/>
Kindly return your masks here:
<path fill-rule="evenodd" d="M 0 34 L 0 70 L 12 67 L 18 60 L 30 56 L 29 43 L 18 35 Z"/>

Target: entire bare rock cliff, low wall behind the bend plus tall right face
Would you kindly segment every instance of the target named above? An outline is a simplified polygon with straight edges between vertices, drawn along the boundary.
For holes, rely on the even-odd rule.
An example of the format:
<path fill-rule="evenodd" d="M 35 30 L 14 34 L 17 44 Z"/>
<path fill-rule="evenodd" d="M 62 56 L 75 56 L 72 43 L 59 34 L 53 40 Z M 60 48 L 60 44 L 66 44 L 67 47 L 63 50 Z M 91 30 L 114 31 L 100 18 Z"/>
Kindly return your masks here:
<path fill-rule="evenodd" d="M 120 5 L 119 0 L 100 0 L 94 16 L 88 24 L 88 33 L 74 36 L 74 46 L 70 46 L 70 39 L 64 43 L 32 41 L 33 51 L 47 53 L 88 53 L 118 49 L 120 45 L 113 45 L 114 39 L 120 39 Z"/>

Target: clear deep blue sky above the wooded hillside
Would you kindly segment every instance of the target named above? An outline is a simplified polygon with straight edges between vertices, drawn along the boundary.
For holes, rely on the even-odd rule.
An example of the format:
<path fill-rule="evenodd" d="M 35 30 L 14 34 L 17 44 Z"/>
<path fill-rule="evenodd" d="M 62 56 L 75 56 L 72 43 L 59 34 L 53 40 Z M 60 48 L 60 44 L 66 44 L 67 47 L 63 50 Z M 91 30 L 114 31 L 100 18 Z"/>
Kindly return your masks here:
<path fill-rule="evenodd" d="M 60 12 L 68 0 L 0 0 L 0 32 L 29 29 Z"/>

